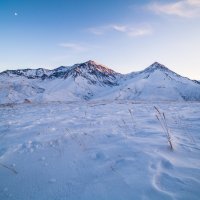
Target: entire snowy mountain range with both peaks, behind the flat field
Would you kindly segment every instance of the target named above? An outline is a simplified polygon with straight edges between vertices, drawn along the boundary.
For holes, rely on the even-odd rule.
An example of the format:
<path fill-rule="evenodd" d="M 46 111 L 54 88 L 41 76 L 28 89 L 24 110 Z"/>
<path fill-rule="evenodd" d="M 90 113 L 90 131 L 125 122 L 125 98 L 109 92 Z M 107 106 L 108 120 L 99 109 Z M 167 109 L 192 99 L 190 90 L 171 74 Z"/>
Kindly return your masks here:
<path fill-rule="evenodd" d="M 90 99 L 199 101 L 200 84 L 158 62 L 125 75 L 91 60 L 54 70 L 0 73 L 0 104 Z"/>

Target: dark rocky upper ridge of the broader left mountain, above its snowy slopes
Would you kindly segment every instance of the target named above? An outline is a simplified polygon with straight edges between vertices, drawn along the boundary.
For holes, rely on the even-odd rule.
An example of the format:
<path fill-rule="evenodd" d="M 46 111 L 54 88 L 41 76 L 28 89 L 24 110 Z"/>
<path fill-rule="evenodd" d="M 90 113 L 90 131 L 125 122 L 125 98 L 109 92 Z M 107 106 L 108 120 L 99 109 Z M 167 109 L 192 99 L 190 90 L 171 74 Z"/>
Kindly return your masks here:
<path fill-rule="evenodd" d="M 54 70 L 47 70 L 43 68 L 38 69 L 22 69 L 22 70 L 6 70 L 0 73 L 4 77 L 25 77 L 28 79 L 55 79 L 83 77 L 91 84 L 99 85 L 116 85 L 116 76 L 118 73 L 106 68 L 102 65 L 89 60 L 85 63 L 75 64 L 72 67 L 61 66 Z"/>

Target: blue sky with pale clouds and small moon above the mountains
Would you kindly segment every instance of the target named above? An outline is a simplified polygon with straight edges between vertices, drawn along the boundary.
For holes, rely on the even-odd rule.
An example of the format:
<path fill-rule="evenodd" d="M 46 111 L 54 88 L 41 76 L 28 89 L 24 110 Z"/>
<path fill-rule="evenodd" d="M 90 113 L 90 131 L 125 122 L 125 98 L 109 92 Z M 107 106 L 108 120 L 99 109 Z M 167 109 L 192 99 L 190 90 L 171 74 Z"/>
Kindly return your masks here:
<path fill-rule="evenodd" d="M 0 0 L 0 71 L 87 60 L 200 80 L 200 0 Z"/>

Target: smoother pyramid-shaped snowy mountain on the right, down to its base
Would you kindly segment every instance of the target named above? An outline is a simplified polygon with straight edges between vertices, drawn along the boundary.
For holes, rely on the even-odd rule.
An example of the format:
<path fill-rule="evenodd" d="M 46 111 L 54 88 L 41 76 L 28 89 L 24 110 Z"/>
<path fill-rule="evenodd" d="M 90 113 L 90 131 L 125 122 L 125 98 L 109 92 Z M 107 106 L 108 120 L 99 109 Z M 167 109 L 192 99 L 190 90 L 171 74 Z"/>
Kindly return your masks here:
<path fill-rule="evenodd" d="M 200 85 L 157 62 L 122 81 L 117 99 L 200 100 Z"/>

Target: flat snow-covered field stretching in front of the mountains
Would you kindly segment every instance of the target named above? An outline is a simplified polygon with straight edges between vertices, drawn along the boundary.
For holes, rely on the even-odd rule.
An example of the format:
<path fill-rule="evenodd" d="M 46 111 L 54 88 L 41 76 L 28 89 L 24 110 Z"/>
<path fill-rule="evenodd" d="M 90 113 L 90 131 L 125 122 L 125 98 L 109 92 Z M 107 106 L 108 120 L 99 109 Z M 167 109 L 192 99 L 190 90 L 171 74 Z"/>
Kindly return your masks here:
<path fill-rule="evenodd" d="M 0 199 L 199 200 L 199 131 L 194 102 L 2 105 Z"/>

